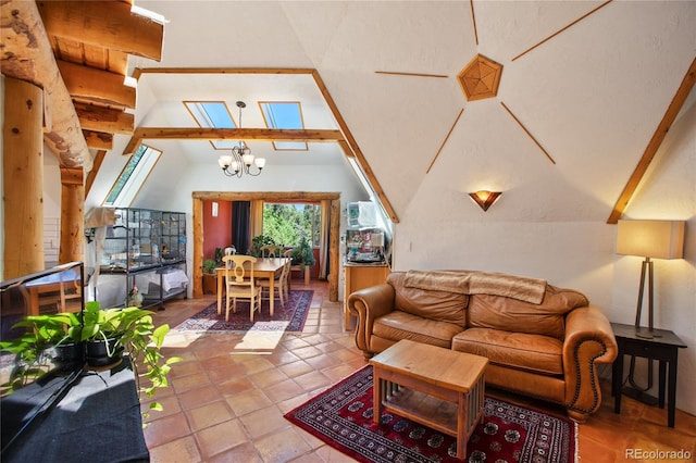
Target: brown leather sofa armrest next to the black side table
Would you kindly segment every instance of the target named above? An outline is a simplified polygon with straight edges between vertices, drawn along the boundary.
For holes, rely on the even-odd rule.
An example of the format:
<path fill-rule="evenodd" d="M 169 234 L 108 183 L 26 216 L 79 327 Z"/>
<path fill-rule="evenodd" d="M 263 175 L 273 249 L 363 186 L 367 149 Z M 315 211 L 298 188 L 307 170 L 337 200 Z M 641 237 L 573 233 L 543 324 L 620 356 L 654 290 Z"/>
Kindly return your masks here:
<path fill-rule="evenodd" d="M 611 324 L 601 310 L 587 305 L 571 311 L 566 317 L 563 374 L 566 405 L 575 411 L 577 421 L 594 413 L 601 404 L 596 365 L 612 363 L 619 348 Z"/>

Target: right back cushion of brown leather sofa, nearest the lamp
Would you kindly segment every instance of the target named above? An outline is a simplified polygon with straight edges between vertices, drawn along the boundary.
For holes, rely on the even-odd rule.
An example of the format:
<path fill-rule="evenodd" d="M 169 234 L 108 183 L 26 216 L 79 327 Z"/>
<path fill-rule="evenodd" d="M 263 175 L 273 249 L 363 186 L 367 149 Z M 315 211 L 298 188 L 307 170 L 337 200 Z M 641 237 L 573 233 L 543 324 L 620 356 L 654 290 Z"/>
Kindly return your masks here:
<path fill-rule="evenodd" d="M 581 292 L 551 285 L 546 286 L 540 304 L 499 296 L 475 295 L 469 301 L 468 326 L 563 339 L 566 314 L 585 305 L 587 305 L 587 298 Z"/>

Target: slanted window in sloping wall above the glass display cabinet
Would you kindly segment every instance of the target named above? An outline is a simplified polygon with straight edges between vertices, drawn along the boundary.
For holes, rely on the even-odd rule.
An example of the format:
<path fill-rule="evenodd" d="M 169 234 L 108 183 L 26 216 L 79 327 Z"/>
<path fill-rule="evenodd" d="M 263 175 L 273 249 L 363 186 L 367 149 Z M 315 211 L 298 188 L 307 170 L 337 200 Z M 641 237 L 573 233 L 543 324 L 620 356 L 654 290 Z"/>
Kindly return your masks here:
<path fill-rule="evenodd" d="M 161 154 L 160 150 L 140 145 L 121 171 L 103 205 L 129 207 Z"/>

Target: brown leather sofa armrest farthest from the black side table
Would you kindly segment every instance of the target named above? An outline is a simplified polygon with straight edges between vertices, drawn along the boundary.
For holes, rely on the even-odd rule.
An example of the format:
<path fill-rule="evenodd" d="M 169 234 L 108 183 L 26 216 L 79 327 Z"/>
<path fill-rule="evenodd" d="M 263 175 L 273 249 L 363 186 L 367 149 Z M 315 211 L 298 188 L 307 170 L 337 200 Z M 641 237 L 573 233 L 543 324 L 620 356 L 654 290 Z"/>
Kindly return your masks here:
<path fill-rule="evenodd" d="M 356 346 L 365 355 L 373 353 L 370 352 L 370 338 L 372 337 L 374 321 L 394 310 L 395 299 L 395 289 L 387 283 L 360 289 L 348 297 L 348 310 L 358 316 Z"/>

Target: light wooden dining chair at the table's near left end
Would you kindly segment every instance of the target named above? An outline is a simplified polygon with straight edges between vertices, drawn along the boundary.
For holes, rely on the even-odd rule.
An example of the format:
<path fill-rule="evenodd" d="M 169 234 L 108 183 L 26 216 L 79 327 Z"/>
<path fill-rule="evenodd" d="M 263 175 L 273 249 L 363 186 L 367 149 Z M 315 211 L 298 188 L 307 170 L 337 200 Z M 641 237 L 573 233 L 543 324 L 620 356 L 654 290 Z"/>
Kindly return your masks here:
<path fill-rule="evenodd" d="M 249 320 L 253 322 L 253 312 L 261 313 L 261 287 L 253 279 L 257 258 L 233 254 L 225 255 L 222 261 L 225 263 L 225 322 L 229 321 L 229 300 L 232 311 L 236 313 L 237 299 L 249 300 Z"/>

